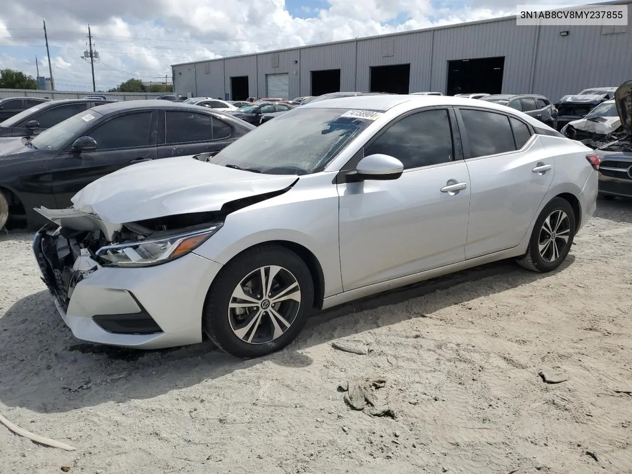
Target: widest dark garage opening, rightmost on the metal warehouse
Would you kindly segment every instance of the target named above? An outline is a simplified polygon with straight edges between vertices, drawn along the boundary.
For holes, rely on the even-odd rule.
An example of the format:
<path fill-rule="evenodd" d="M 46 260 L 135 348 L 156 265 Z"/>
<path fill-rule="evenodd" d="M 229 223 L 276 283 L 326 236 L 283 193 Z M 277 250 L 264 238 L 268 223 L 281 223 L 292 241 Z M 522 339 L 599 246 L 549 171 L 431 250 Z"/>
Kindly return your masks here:
<path fill-rule="evenodd" d="M 504 64 L 504 56 L 447 61 L 447 95 L 501 94 Z"/>

